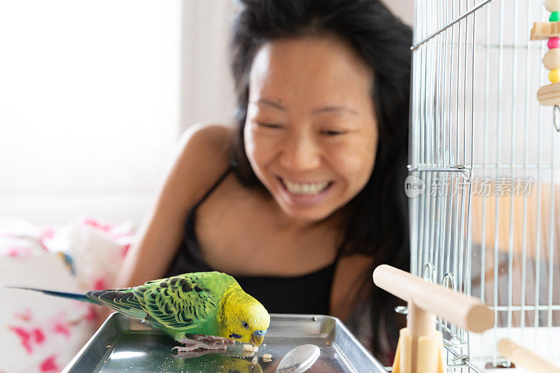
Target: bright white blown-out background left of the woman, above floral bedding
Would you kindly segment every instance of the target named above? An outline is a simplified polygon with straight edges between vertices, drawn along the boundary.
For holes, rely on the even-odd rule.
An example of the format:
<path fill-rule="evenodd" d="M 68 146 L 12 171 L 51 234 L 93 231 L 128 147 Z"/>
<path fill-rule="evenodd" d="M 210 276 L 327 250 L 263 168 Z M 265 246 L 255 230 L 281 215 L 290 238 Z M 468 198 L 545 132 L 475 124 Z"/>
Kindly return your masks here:
<path fill-rule="evenodd" d="M 179 1 L 0 2 L 0 216 L 137 219 L 179 128 Z"/>

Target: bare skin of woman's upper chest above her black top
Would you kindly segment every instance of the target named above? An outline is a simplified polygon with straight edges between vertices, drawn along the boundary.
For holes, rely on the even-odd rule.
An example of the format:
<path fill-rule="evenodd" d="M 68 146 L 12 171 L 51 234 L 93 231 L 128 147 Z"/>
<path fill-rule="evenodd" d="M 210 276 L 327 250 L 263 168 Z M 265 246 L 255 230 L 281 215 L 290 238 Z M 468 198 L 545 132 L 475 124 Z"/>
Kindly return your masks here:
<path fill-rule="evenodd" d="M 195 218 L 202 258 L 210 267 L 246 276 L 297 276 L 334 262 L 340 236 L 336 231 L 321 225 L 283 227 L 258 196 L 211 197 Z"/>

